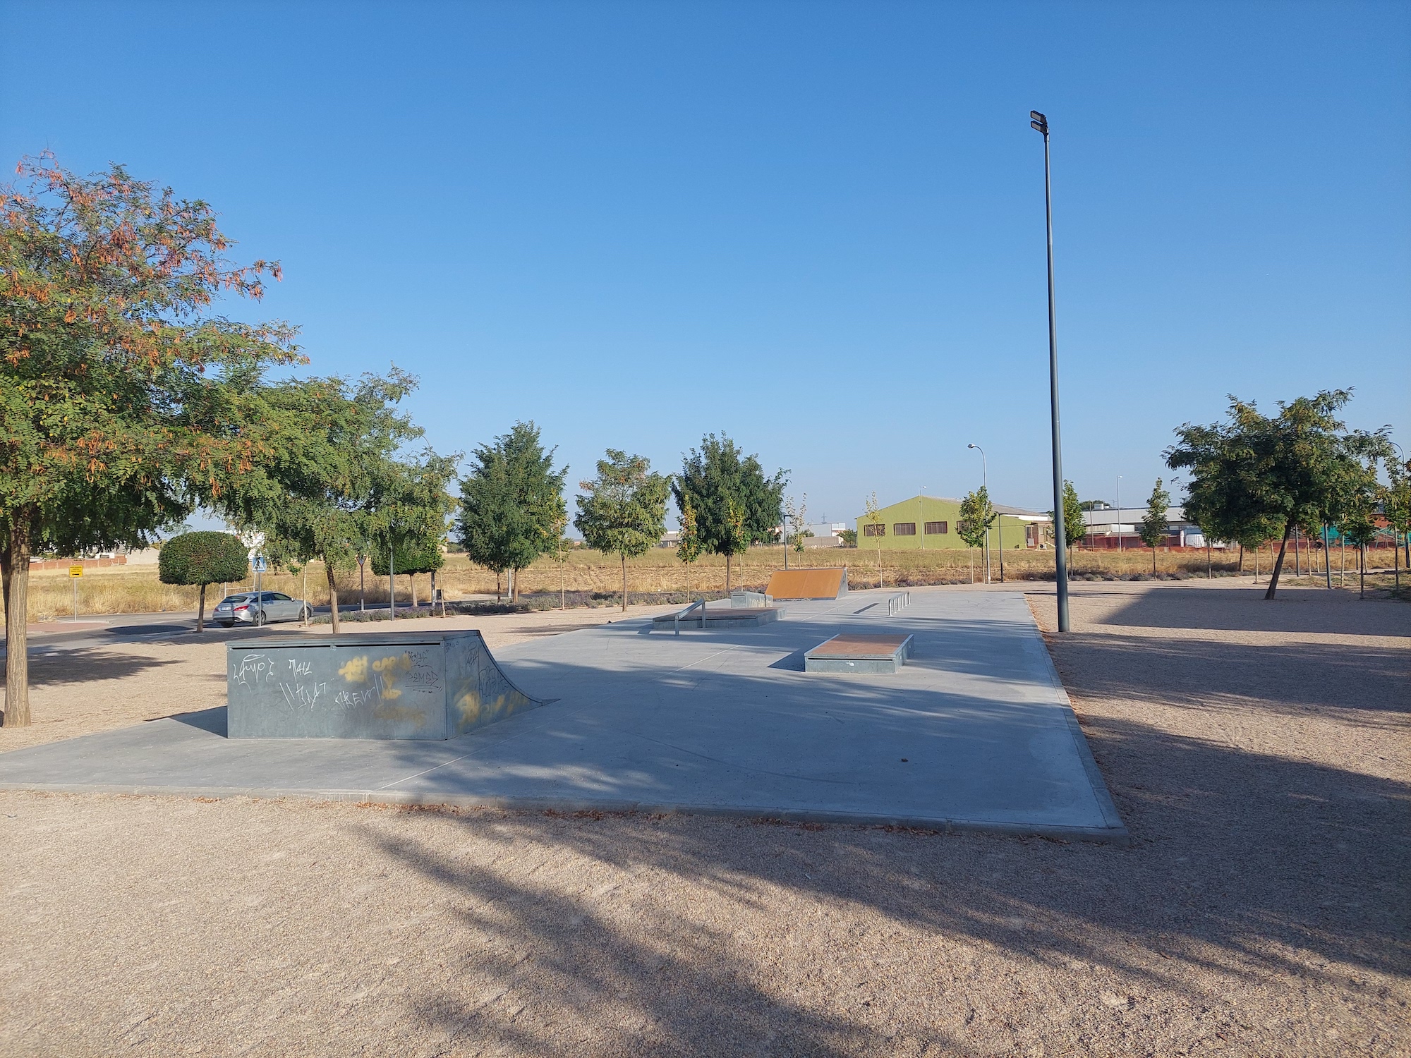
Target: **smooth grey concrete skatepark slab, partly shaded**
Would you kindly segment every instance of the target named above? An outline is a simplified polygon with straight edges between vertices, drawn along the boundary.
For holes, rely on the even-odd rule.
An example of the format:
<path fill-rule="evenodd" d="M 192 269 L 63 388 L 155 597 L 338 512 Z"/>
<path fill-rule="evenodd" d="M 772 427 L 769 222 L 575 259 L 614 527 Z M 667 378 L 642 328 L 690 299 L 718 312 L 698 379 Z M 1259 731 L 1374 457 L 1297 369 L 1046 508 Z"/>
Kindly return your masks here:
<path fill-rule="evenodd" d="M 1022 595 L 793 604 L 759 628 L 628 619 L 498 653 L 552 703 L 447 742 L 229 739 L 224 710 L 0 755 L 0 787 L 700 811 L 1125 839 Z M 865 612 L 859 612 L 865 611 Z M 895 674 L 820 680 L 841 632 L 912 635 Z"/>

